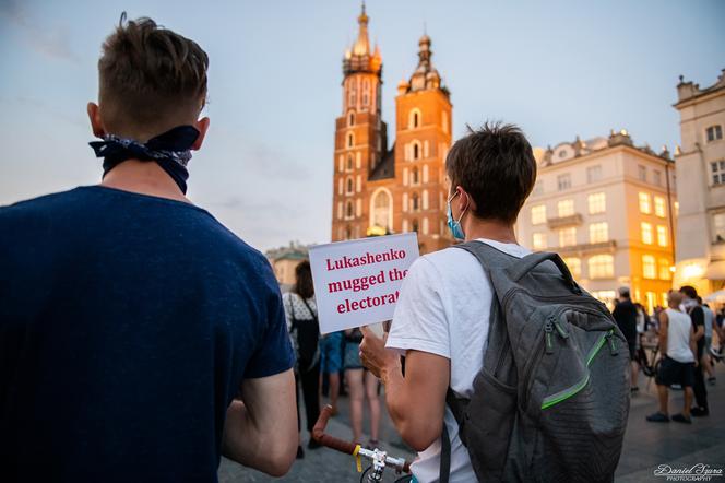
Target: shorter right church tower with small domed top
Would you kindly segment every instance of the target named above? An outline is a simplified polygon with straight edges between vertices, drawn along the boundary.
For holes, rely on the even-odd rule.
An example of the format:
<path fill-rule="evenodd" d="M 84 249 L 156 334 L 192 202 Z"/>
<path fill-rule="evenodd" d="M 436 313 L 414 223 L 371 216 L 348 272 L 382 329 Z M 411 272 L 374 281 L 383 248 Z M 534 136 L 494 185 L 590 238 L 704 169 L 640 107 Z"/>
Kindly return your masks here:
<path fill-rule="evenodd" d="M 450 92 L 431 62 L 431 40 L 418 40 L 418 66 L 395 97 L 396 232 L 418 232 L 420 252 L 451 245 L 445 224 L 445 155 L 451 145 Z"/>

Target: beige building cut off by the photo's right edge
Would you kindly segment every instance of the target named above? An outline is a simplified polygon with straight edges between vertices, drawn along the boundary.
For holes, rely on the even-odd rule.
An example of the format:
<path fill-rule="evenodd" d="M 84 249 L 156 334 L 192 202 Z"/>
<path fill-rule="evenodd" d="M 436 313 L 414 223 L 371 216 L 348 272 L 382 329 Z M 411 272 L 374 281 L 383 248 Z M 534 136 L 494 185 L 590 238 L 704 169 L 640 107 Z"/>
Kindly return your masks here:
<path fill-rule="evenodd" d="M 675 282 L 706 295 L 725 286 L 725 69 L 705 89 L 680 76 L 677 97 L 682 197 Z"/>

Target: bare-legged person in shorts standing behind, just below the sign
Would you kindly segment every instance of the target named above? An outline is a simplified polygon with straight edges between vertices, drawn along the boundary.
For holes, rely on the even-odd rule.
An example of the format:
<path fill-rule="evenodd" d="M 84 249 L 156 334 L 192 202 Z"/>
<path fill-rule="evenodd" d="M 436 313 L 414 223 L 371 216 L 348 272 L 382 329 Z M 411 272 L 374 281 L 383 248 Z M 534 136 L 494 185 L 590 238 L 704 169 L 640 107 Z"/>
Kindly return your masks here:
<path fill-rule="evenodd" d="M 345 381 L 349 396 L 349 413 L 353 424 L 353 441 L 367 448 L 379 445 L 380 397 L 378 378 L 367 370 L 360 361 L 362 332 L 359 328 L 345 331 Z M 362 408 L 367 398 L 370 410 L 370 439 L 362 441 Z"/>

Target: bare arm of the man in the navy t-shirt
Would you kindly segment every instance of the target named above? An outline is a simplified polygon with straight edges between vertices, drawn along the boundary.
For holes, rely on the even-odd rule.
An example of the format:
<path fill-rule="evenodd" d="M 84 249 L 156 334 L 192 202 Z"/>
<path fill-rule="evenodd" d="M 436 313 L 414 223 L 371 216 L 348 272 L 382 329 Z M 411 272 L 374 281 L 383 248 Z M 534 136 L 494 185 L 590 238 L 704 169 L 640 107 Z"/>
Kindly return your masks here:
<path fill-rule="evenodd" d="M 241 401 L 233 401 L 224 423 L 222 453 L 272 476 L 283 476 L 295 461 L 297 412 L 292 369 L 245 379 Z"/>

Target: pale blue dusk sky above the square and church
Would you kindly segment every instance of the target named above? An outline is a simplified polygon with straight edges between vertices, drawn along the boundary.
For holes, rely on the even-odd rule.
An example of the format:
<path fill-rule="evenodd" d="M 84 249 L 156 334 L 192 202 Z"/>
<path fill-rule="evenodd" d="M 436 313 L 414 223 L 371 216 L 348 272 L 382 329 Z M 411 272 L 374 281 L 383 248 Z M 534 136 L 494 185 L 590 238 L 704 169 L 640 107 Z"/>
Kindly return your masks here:
<path fill-rule="evenodd" d="M 87 142 L 103 39 L 151 16 L 210 56 L 211 128 L 188 196 L 262 250 L 330 240 L 334 119 L 357 1 L 0 0 L 0 204 L 96 184 Z M 432 38 L 451 91 L 454 139 L 487 119 L 533 145 L 627 129 L 679 143 L 678 76 L 708 86 L 725 68 L 725 2 L 367 2 L 383 58 L 383 118 Z M 394 132 L 389 131 L 392 143 Z"/>

